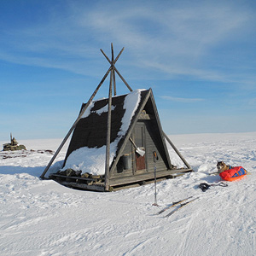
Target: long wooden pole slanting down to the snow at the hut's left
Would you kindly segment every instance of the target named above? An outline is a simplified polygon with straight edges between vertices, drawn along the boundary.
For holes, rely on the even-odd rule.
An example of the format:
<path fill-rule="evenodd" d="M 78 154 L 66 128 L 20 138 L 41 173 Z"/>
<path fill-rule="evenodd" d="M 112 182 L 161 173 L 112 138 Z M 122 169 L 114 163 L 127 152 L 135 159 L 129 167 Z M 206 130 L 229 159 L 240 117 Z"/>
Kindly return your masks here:
<path fill-rule="evenodd" d="M 71 133 L 73 132 L 74 128 L 76 127 L 76 125 L 79 122 L 79 119 L 81 119 L 82 115 L 84 114 L 85 110 L 88 108 L 88 106 L 90 105 L 90 102 L 92 101 L 92 99 L 96 96 L 97 91 L 100 89 L 100 87 L 102 86 L 104 80 L 108 77 L 108 73 L 112 70 L 112 67 L 108 68 L 107 73 L 105 73 L 104 77 L 102 78 L 102 81 L 100 82 L 100 84 L 98 84 L 98 86 L 96 87 L 96 90 L 93 92 L 93 94 L 90 96 L 89 101 L 86 103 L 86 105 L 84 106 L 84 108 L 82 109 L 81 113 L 79 114 L 79 117 L 75 120 L 75 122 L 73 123 L 72 127 L 70 128 L 70 130 L 67 132 L 66 137 L 64 137 L 61 145 L 59 146 L 59 148 L 57 148 L 55 154 L 53 155 L 53 157 L 51 158 L 51 160 L 49 160 L 49 164 L 48 166 L 46 166 L 46 168 L 44 169 L 44 172 L 41 174 L 41 178 L 44 178 L 44 175 L 46 174 L 46 172 L 48 172 L 49 167 L 52 165 L 52 163 L 54 162 L 56 156 L 60 153 L 61 148 L 63 148 L 64 144 L 67 142 L 68 137 L 70 137 Z"/>

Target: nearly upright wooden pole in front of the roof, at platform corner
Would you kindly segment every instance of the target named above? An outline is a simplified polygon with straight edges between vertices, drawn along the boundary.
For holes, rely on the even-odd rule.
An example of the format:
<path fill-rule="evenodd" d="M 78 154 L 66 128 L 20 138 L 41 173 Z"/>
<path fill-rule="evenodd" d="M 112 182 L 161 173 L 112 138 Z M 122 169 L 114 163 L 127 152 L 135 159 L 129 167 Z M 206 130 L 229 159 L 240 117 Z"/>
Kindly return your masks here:
<path fill-rule="evenodd" d="M 106 143 L 106 166 L 105 166 L 105 189 L 109 190 L 109 158 L 110 158 L 110 139 L 111 139 L 111 107 L 112 107 L 112 85 L 113 70 L 110 73 L 109 93 L 108 93 L 108 124 L 107 124 L 107 143 Z"/>

